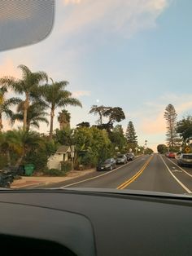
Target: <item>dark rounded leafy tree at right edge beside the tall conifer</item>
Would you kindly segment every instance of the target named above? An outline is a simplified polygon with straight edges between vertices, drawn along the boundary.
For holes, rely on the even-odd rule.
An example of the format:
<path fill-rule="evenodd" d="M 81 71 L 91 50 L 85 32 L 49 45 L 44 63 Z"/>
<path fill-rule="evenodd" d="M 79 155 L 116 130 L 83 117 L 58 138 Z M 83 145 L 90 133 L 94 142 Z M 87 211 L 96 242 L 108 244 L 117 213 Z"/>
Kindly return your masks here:
<path fill-rule="evenodd" d="M 176 131 L 184 141 L 192 137 L 192 117 L 188 116 L 178 121 Z"/>

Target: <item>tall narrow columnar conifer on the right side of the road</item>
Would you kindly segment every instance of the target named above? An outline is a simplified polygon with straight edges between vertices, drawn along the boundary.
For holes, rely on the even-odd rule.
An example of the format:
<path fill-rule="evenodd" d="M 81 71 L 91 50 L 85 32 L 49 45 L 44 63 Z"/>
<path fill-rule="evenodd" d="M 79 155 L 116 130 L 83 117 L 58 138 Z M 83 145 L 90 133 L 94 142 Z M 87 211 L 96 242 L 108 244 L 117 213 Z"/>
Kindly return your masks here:
<path fill-rule="evenodd" d="M 177 144 L 177 113 L 172 104 L 165 108 L 164 118 L 167 121 L 167 141 L 168 146 L 174 147 Z"/>

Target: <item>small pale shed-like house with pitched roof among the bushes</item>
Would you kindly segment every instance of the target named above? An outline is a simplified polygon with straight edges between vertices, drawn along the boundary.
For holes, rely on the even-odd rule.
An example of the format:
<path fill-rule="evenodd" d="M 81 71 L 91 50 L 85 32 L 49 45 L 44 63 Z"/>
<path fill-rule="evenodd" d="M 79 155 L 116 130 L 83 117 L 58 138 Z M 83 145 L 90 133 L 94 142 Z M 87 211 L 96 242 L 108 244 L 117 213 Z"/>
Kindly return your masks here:
<path fill-rule="evenodd" d="M 71 157 L 71 148 L 69 146 L 60 146 L 52 155 L 48 158 L 47 167 L 48 169 L 58 169 L 61 170 L 61 162 L 68 161 Z"/>

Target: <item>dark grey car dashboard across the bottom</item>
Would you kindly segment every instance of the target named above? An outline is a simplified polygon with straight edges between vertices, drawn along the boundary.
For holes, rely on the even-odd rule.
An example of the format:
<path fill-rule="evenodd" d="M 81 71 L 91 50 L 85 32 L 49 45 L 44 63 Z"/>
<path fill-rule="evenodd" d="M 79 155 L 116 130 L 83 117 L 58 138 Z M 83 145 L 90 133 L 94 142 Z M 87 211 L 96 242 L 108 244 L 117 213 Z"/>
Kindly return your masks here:
<path fill-rule="evenodd" d="M 190 255 L 190 196 L 112 189 L 2 190 L 7 254 Z M 3 250 L 4 250 L 3 249 Z"/>

